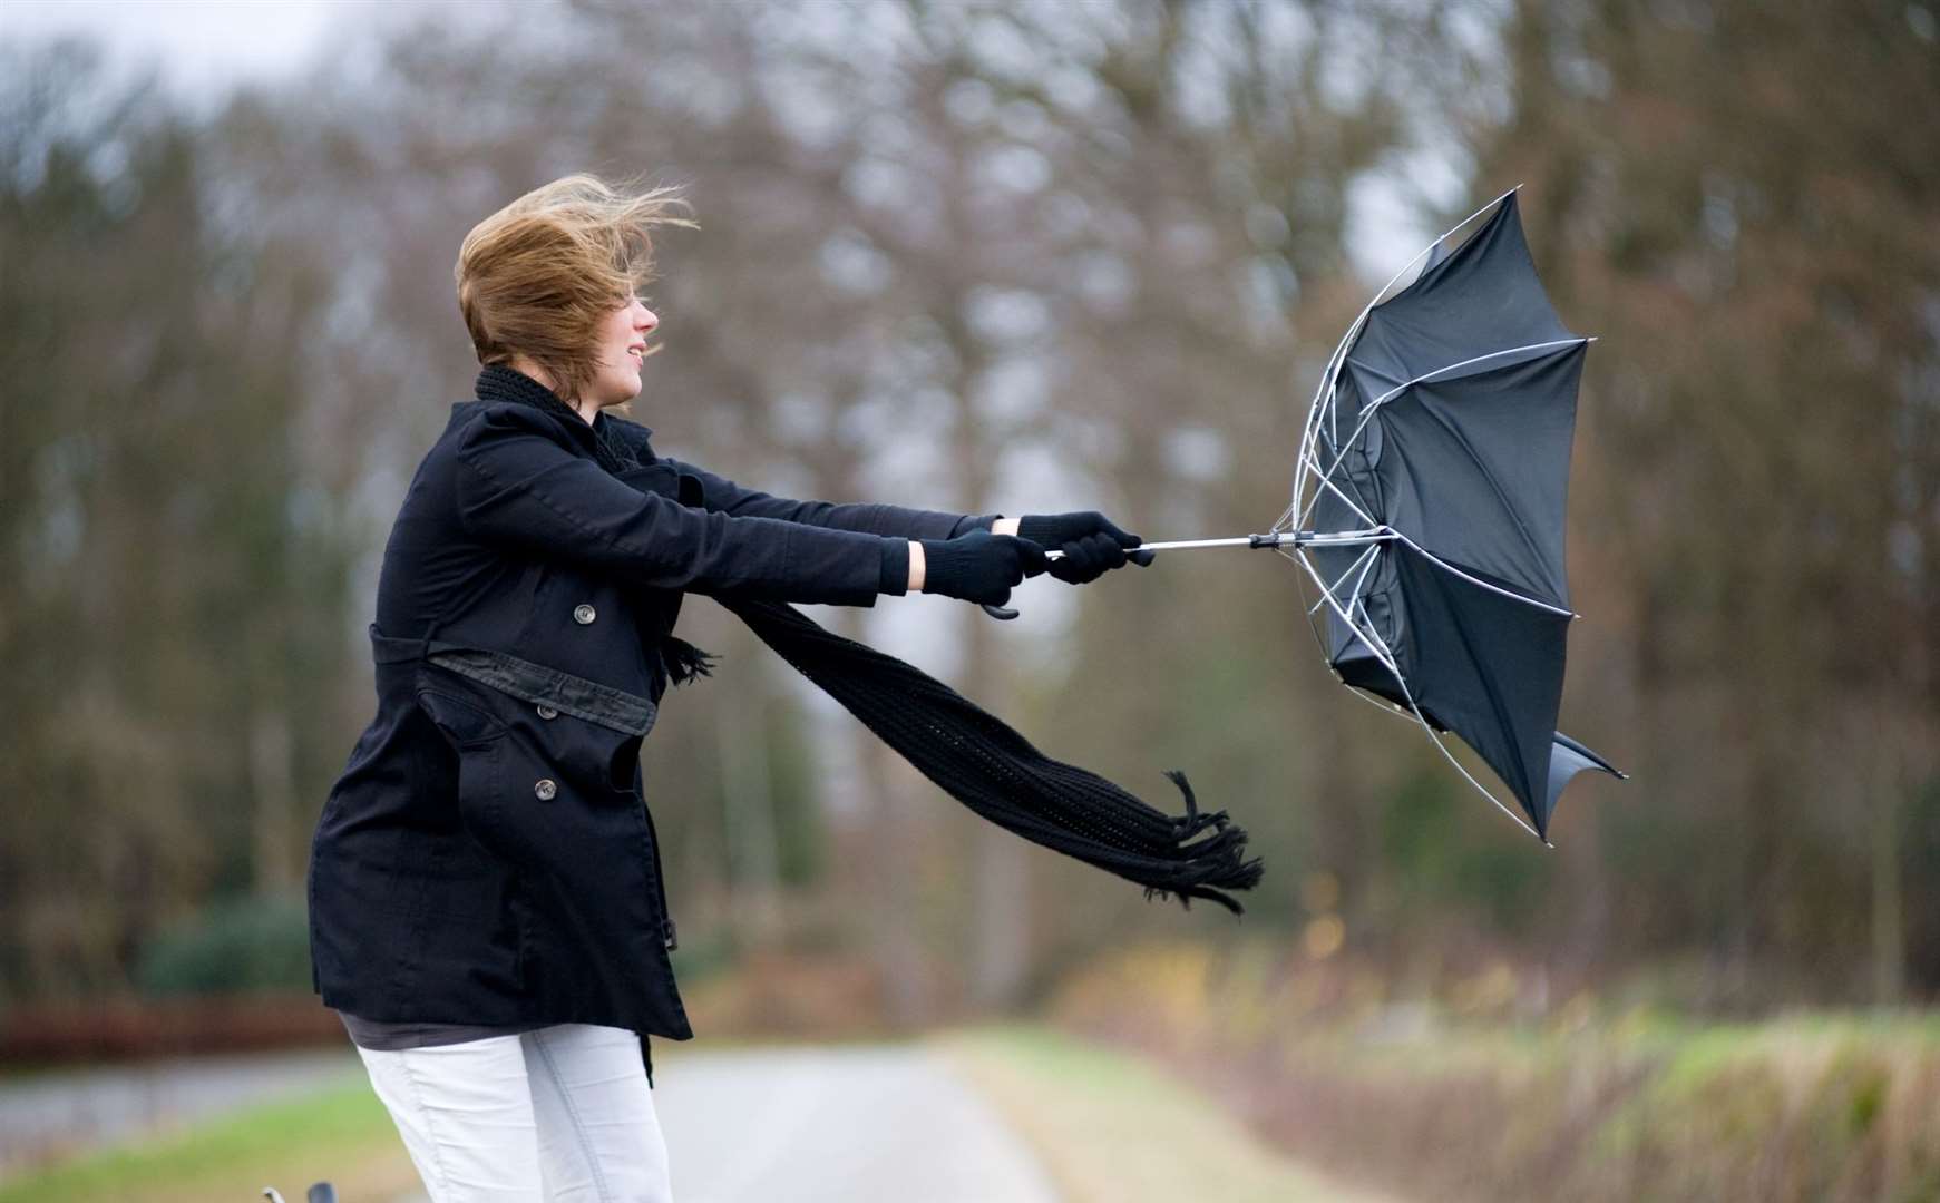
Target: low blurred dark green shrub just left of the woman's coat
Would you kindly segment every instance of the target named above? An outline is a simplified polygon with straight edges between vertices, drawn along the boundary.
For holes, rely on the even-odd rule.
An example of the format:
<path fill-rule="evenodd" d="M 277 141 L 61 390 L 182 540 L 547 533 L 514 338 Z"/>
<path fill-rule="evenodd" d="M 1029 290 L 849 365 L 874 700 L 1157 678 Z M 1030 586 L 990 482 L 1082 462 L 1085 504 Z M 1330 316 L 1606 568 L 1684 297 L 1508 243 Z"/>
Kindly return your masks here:
<path fill-rule="evenodd" d="M 142 949 L 147 995 L 310 990 L 310 926 L 301 896 L 242 894 L 161 929 Z"/>

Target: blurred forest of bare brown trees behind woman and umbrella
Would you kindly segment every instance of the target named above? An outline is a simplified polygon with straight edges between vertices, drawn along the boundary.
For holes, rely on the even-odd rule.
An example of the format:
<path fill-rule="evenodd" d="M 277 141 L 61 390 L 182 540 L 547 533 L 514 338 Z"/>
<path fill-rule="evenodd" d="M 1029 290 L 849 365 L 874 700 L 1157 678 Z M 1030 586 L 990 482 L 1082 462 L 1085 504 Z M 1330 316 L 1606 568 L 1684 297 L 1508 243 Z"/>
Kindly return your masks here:
<path fill-rule="evenodd" d="M 570 171 L 700 223 L 632 415 L 795 497 L 1261 530 L 1360 305 L 1515 184 L 1600 338 L 1562 726 L 1633 780 L 1581 778 L 1554 850 L 1342 695 L 1278 557 L 1030 582 L 1011 625 L 815 611 L 1154 805 L 1183 768 L 1265 858 L 1240 924 L 978 823 L 696 600 L 726 662 L 644 755 L 702 1034 L 1030 1005 L 1154 937 L 1525 1019 L 1940 992 L 1936 10 L 516 12 L 347 27 L 208 113 L 0 43 L 0 1017 L 308 990 L 378 553 L 475 374 L 456 248 Z"/>

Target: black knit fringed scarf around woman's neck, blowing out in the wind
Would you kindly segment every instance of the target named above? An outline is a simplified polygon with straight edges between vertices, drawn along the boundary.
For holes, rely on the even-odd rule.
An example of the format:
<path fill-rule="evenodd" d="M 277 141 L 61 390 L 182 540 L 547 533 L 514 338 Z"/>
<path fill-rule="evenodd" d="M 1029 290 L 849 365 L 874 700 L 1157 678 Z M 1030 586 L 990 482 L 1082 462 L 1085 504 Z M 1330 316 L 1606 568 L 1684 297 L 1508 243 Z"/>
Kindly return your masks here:
<path fill-rule="evenodd" d="M 537 406 L 584 421 L 549 388 L 508 367 L 479 373 L 479 394 Z M 599 413 L 594 452 L 599 466 L 619 473 L 642 464 L 619 423 Z M 1191 910 L 1209 898 L 1234 914 L 1240 902 L 1224 891 L 1259 883 L 1259 858 L 1245 860 L 1245 830 L 1226 811 L 1201 813 L 1185 774 L 1166 776 L 1185 797 L 1185 815 L 1166 813 L 1133 797 L 1106 778 L 1053 761 L 999 718 L 935 677 L 885 656 L 875 648 L 824 631 L 793 605 L 716 598 L 747 623 L 768 648 L 809 681 L 842 702 L 906 761 L 991 823 L 1034 844 L 1053 848 L 1145 887 L 1145 896 L 1178 896 Z M 673 683 L 710 671 L 710 656 L 685 640 L 667 640 Z M 1199 832 L 1212 834 L 1187 842 Z"/>

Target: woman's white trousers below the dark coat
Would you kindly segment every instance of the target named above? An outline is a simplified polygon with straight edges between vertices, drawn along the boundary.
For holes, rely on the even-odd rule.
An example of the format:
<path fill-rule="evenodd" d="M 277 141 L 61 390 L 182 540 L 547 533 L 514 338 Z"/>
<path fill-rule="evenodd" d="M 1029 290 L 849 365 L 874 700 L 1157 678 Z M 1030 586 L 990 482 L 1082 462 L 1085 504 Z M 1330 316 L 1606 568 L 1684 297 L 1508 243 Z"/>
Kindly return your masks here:
<path fill-rule="evenodd" d="M 625 1028 L 359 1048 L 431 1203 L 671 1203 L 667 1143 Z"/>

